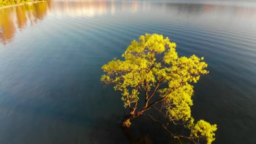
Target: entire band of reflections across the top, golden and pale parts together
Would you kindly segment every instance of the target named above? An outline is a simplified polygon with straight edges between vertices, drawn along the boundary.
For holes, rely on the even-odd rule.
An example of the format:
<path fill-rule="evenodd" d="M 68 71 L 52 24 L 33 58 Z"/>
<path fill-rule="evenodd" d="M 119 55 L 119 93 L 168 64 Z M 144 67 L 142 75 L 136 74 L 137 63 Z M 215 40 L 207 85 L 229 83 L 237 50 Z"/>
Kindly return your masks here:
<path fill-rule="evenodd" d="M 37 24 L 43 20 L 48 11 L 56 16 L 97 16 L 105 13 L 121 14 L 127 13 L 147 14 L 160 13 L 172 19 L 256 19 L 255 7 L 238 7 L 227 5 L 188 4 L 188 3 L 150 3 L 147 1 L 106 1 L 106 0 L 77 0 L 77 1 L 48 1 L 13 8 L 0 9 L 0 42 L 10 42 L 16 28 L 19 30 L 27 26 Z M 122 13 L 120 13 L 122 12 Z"/>

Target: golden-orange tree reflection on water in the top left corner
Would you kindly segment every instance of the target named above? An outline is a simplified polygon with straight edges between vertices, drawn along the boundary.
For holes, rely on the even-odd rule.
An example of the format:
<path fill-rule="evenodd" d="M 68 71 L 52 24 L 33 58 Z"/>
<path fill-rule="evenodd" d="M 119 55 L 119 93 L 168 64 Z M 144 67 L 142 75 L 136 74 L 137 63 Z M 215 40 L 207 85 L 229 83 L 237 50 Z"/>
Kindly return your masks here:
<path fill-rule="evenodd" d="M 4 45 L 11 42 L 16 27 L 20 30 L 27 27 L 28 20 L 31 26 L 37 24 L 37 19 L 43 20 L 51 3 L 49 1 L 0 9 L 0 42 Z"/>

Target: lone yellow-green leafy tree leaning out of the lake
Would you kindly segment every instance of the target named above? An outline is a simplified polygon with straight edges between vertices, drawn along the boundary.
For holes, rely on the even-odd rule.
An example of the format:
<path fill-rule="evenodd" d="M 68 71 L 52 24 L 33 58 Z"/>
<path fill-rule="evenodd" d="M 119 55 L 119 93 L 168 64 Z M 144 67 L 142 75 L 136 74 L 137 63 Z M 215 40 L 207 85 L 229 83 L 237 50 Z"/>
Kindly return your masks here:
<path fill-rule="evenodd" d="M 207 64 L 202 61 L 203 57 L 179 57 L 175 48 L 176 43 L 163 35 L 141 35 L 139 41 L 133 40 L 122 55 L 124 61 L 114 58 L 102 66 L 106 74 L 102 75 L 101 81 L 114 84 L 114 89 L 122 92 L 124 107 L 129 107 L 129 115 L 122 121 L 123 128 L 128 128 L 135 117 L 149 117 L 178 140 L 187 138 L 195 143 L 211 144 L 217 125 L 204 120 L 195 123 L 190 109 L 194 93 L 191 84 L 208 73 L 205 70 Z M 144 101 L 141 108 L 138 107 L 139 100 Z M 168 121 L 167 125 L 145 114 L 150 109 L 162 115 Z M 187 133 L 177 135 L 170 130 L 169 124 L 181 125 Z"/>

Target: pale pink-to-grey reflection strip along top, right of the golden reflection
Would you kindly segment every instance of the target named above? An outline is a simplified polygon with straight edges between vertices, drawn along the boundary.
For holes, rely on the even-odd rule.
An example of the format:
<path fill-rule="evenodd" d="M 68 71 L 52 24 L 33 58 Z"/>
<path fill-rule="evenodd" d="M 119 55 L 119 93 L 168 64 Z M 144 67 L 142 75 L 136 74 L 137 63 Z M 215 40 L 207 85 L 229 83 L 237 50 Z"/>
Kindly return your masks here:
<path fill-rule="evenodd" d="M 229 5 L 211 5 L 211 4 L 188 4 L 188 3 L 158 3 L 147 1 L 115 1 L 115 0 L 76 0 L 76 1 L 56 1 L 52 8 L 58 15 L 69 16 L 96 16 L 102 13 L 116 13 L 125 11 L 128 13 L 148 12 L 148 13 L 171 13 L 181 17 L 197 18 L 200 16 L 212 15 L 219 17 L 238 17 L 243 16 L 255 18 L 255 7 L 239 7 Z M 235 13 L 235 14 L 234 14 Z"/>

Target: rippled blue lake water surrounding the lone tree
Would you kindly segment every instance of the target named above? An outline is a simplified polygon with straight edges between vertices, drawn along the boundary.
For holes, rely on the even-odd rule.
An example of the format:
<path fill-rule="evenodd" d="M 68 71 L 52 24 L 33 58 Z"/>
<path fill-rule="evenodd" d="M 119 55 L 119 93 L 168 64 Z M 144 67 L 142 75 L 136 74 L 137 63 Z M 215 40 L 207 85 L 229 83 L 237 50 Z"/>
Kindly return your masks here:
<path fill-rule="evenodd" d="M 49 1 L 0 9 L 0 144 L 125 144 L 120 93 L 101 66 L 159 33 L 179 56 L 204 56 L 192 115 L 218 125 L 215 144 L 256 144 L 256 5 Z M 234 4 L 234 5 L 233 5 Z M 138 121 L 138 122 L 137 122 Z M 134 137 L 169 137 L 150 120 Z M 140 124 L 142 123 L 142 124 Z M 157 125 L 157 124 L 155 124 Z"/>

